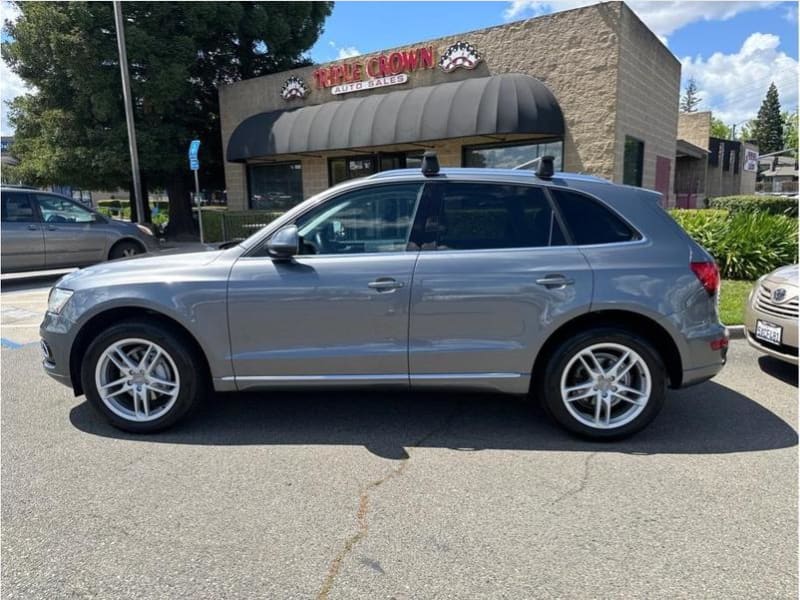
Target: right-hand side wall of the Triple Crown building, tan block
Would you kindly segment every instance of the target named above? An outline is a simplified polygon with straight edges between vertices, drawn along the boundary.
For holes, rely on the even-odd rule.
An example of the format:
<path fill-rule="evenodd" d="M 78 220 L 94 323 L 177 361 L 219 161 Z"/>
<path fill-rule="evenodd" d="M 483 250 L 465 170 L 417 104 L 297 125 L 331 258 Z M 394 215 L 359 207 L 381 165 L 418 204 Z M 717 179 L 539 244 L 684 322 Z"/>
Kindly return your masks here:
<path fill-rule="evenodd" d="M 614 181 L 622 181 L 625 136 L 644 142 L 642 186 L 655 189 L 656 157 L 670 161 L 667 202 L 674 203 L 680 62 L 628 8 L 621 6 Z"/>

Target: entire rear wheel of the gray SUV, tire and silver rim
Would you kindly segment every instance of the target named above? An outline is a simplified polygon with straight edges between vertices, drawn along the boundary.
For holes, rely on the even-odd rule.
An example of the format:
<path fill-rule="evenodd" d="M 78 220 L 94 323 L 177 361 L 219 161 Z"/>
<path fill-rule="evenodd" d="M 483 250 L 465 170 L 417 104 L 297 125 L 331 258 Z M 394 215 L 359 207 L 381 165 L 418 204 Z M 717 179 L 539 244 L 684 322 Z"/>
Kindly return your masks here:
<path fill-rule="evenodd" d="M 617 365 L 621 377 L 614 377 Z M 591 440 L 631 436 L 664 405 L 667 378 L 660 355 L 645 338 L 623 329 L 595 328 L 565 340 L 543 373 L 536 391 L 547 412 L 568 431 Z"/>

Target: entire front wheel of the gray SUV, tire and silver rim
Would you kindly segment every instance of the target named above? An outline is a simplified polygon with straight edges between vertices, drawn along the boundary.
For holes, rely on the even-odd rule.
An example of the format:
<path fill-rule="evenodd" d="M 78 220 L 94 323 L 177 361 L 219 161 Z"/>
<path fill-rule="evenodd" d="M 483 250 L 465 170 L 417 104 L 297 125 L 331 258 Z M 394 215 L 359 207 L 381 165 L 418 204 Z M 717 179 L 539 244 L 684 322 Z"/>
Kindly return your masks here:
<path fill-rule="evenodd" d="M 172 328 L 123 321 L 89 345 L 81 383 L 86 398 L 114 427 L 151 433 L 175 424 L 201 402 L 208 387 L 204 364 Z"/>

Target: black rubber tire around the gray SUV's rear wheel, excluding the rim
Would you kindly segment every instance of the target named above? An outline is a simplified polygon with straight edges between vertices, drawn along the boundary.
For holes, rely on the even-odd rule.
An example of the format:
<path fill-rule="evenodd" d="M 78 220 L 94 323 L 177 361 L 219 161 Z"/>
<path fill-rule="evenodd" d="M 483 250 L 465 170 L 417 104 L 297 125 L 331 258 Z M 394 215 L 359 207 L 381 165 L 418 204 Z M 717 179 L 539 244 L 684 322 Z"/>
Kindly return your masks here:
<path fill-rule="evenodd" d="M 621 344 L 634 350 L 650 370 L 652 389 L 645 409 L 630 423 L 614 429 L 595 429 L 579 422 L 567 410 L 561 399 L 561 376 L 569 361 L 582 348 L 603 342 Z M 643 337 L 630 331 L 598 328 L 576 335 L 553 352 L 539 386 L 539 395 L 545 410 L 562 427 L 581 437 L 592 440 L 619 440 L 644 429 L 655 419 L 664 405 L 666 396 L 666 371 L 658 352 Z"/>

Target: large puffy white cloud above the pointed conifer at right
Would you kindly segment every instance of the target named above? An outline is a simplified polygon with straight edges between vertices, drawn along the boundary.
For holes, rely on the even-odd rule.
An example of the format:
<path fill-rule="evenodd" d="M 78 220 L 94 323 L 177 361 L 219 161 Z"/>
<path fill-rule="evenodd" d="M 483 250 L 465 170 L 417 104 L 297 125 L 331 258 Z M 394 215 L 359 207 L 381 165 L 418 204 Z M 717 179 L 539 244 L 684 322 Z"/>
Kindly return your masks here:
<path fill-rule="evenodd" d="M 684 82 L 694 77 L 701 110 L 730 125 L 752 119 L 771 82 L 775 82 L 783 110 L 794 110 L 798 101 L 798 62 L 780 51 L 780 38 L 753 33 L 733 54 L 715 52 L 708 58 L 681 59 Z"/>

